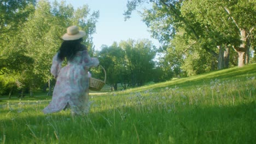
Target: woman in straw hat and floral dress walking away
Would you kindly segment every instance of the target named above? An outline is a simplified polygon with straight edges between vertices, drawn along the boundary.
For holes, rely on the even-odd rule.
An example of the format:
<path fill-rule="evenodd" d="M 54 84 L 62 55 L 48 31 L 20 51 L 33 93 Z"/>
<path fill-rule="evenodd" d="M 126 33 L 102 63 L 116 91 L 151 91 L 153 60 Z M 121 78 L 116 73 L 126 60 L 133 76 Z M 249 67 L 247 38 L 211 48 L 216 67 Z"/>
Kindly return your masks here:
<path fill-rule="evenodd" d="M 70 107 L 72 114 L 83 115 L 89 112 L 89 78 L 88 69 L 97 66 L 97 58 L 88 55 L 86 47 L 80 44 L 85 36 L 77 26 L 67 28 L 62 36 L 64 40 L 59 52 L 53 57 L 51 74 L 56 78 L 53 99 L 43 112 L 53 113 Z M 63 60 L 68 64 L 61 68 Z"/>

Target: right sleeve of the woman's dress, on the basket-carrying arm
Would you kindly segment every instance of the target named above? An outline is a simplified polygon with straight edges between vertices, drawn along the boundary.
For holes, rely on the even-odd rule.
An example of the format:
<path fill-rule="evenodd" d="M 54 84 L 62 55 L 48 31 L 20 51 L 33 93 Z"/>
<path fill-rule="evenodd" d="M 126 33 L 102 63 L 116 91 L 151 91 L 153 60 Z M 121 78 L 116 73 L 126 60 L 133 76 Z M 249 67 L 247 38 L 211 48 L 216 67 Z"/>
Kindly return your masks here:
<path fill-rule="evenodd" d="M 83 62 L 82 64 L 85 66 L 85 67 L 96 67 L 98 66 L 100 62 L 98 61 L 98 58 L 96 57 L 90 57 L 89 54 L 88 54 L 88 51 L 84 51 L 83 52 Z"/>

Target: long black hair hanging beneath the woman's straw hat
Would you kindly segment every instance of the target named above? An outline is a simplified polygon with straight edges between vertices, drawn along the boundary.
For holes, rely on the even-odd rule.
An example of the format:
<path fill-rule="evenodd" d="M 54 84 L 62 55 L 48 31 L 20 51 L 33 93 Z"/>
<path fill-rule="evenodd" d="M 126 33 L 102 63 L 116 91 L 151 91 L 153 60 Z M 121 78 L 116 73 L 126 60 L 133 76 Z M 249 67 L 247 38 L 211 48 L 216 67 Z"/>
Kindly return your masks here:
<path fill-rule="evenodd" d="M 67 61 L 71 61 L 75 54 L 85 47 L 81 44 L 83 38 L 77 40 L 64 40 L 59 49 L 58 58 L 62 61 L 67 58 Z"/>

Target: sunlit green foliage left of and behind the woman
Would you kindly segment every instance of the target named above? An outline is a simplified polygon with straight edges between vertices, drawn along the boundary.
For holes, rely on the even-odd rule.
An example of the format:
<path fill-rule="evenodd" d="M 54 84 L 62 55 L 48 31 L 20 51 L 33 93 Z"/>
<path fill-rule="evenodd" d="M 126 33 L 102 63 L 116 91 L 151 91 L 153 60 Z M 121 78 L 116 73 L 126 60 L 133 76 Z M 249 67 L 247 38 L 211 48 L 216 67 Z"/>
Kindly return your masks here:
<path fill-rule="evenodd" d="M 0 27 L 1 31 L 8 29 L 9 25 L 17 28 L 14 29 L 15 33 L 9 28 L 9 33 L 0 35 L 5 37 L 8 34 L 2 43 L 3 49 L 0 45 L 0 74 L 7 73 L 8 79 L 13 77 L 22 87 L 37 89 L 53 79 L 50 74 L 51 60 L 59 49 L 61 37 L 68 26 L 77 25 L 86 32 L 83 43 L 93 53 L 92 34 L 95 33 L 98 11 L 90 14 L 88 5 L 74 10 L 72 5 L 66 5 L 65 2 L 55 1 L 51 4 L 45 0 L 38 1 L 36 6 L 32 5 L 34 1 L 3 2 L 1 7 L 2 4 L 7 9 L 14 10 L 14 18 L 15 15 L 22 17 L 20 21 L 14 20 L 13 24 L 6 18 L 11 12 L 8 16 L 1 15 L 9 22 L 0 23 L 3 25 Z"/>

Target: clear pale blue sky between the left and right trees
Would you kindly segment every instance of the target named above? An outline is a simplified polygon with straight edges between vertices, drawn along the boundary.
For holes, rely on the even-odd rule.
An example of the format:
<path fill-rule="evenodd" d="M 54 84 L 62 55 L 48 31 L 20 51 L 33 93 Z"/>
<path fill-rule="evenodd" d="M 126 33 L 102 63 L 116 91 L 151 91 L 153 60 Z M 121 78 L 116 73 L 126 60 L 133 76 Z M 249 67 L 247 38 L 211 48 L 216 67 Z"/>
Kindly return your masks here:
<path fill-rule="evenodd" d="M 92 35 L 96 50 L 100 50 L 103 44 L 110 46 L 114 41 L 119 43 L 129 38 L 149 39 L 158 47 L 158 41 L 150 38 L 149 28 L 141 21 L 137 11 L 133 11 L 131 19 L 124 21 L 123 13 L 126 10 L 126 3 L 127 0 L 66 0 L 66 4 L 72 4 L 75 9 L 88 4 L 90 13 L 100 11 L 96 33 Z"/>

